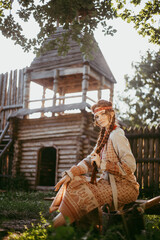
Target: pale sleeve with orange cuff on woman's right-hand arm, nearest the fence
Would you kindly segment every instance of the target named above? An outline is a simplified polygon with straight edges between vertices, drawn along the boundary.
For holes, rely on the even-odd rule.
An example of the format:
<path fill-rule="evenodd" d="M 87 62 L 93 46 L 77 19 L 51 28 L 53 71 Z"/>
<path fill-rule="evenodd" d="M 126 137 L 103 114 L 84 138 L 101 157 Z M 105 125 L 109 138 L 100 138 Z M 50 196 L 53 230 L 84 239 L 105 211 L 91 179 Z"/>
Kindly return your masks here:
<path fill-rule="evenodd" d="M 111 135 L 113 147 L 120 162 L 114 163 L 107 160 L 106 170 L 112 174 L 128 175 L 136 170 L 136 161 L 132 154 L 128 139 L 122 129 L 116 130 Z"/>

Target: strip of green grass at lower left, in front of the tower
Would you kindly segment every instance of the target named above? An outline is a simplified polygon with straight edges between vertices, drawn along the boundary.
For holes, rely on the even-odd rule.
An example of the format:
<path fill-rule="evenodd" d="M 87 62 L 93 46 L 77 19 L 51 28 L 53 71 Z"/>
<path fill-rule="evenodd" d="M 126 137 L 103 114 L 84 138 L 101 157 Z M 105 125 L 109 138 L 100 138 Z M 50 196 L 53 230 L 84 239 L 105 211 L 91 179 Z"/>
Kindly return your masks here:
<path fill-rule="evenodd" d="M 0 221 L 7 219 L 39 219 L 42 212 L 45 218 L 50 216 L 51 201 L 44 197 L 53 197 L 54 192 L 8 191 L 0 193 Z"/>

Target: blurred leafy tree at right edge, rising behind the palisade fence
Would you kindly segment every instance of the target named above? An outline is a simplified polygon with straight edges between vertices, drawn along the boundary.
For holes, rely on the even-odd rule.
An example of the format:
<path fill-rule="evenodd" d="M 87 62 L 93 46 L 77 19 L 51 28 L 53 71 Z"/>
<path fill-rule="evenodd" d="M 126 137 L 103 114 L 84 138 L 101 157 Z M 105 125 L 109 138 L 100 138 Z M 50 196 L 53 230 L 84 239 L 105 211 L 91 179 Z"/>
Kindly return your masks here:
<path fill-rule="evenodd" d="M 121 100 L 128 106 L 128 111 L 126 116 L 121 118 L 124 123 L 132 126 L 160 124 L 159 66 L 160 51 L 147 51 L 140 62 L 133 64 L 134 76 L 125 76 L 125 97 Z"/>

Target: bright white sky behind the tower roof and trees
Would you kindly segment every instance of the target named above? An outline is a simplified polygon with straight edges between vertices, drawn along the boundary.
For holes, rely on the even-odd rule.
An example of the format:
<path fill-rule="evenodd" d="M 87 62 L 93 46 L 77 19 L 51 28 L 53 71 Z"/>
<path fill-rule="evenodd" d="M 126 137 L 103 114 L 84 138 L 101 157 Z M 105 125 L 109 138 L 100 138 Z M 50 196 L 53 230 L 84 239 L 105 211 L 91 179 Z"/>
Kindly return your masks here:
<path fill-rule="evenodd" d="M 134 73 L 131 67 L 132 62 L 140 61 L 140 56 L 144 55 L 148 49 L 158 50 L 158 46 L 140 36 L 132 23 L 126 23 L 121 19 L 110 20 L 109 23 L 117 29 L 117 33 L 114 36 L 104 36 L 99 27 L 95 31 L 95 39 L 117 81 L 114 91 L 114 99 L 116 99 L 119 94 L 123 94 L 124 75 L 131 76 Z M 28 36 L 32 36 L 36 30 L 34 24 L 25 26 Z M 14 45 L 12 40 L 6 39 L 1 33 L 0 56 L 0 73 L 30 66 L 35 57 L 32 52 L 25 53 L 20 46 Z"/>

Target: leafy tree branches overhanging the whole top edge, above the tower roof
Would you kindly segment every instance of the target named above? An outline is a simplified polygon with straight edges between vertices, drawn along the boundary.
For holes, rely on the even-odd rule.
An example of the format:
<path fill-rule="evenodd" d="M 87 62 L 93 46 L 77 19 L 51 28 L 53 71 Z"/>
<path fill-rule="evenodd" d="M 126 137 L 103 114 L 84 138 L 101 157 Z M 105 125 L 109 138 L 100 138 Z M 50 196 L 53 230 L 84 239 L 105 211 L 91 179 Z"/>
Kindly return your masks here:
<path fill-rule="evenodd" d="M 98 24 L 102 25 L 105 35 L 113 35 L 116 30 L 107 21 L 116 17 L 128 23 L 133 22 L 139 34 L 149 36 L 151 42 L 160 44 L 158 20 L 154 17 L 159 13 L 158 0 L 146 0 L 145 5 L 136 13 L 133 12 L 134 8 L 141 6 L 142 0 L 132 0 L 130 4 L 125 0 L 19 0 L 19 9 L 14 13 L 15 2 L 17 1 L 0 1 L 0 31 L 24 51 L 33 50 L 39 54 L 44 51 L 42 46 L 48 37 L 52 38 L 55 34 L 58 22 L 68 32 L 63 35 L 63 39 L 57 38 L 50 42 L 45 50 L 57 46 L 59 54 L 66 54 L 71 38 L 89 56 L 94 47 L 92 36 Z M 11 11 L 8 12 L 7 9 Z M 38 24 L 39 33 L 29 39 L 24 35 L 21 22 L 29 22 L 31 19 Z"/>

